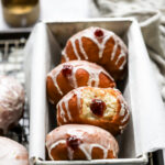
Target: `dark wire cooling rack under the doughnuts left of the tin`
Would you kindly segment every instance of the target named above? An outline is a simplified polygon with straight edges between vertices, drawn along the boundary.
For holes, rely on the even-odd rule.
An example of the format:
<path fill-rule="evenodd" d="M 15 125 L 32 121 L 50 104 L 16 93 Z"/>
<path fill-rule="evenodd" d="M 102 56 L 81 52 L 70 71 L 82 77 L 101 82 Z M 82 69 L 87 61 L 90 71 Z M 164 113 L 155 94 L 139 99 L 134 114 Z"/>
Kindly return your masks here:
<path fill-rule="evenodd" d="M 9 34 L 9 37 L 12 35 Z M 16 36 L 16 37 L 15 37 Z M 24 87 L 25 76 L 23 72 L 23 47 L 28 35 L 20 34 L 8 38 L 7 34 L 0 37 L 0 75 L 9 75 L 16 78 Z M 24 88 L 25 89 L 25 88 Z M 24 113 L 19 124 L 11 129 L 6 136 L 18 141 L 24 146 L 29 146 L 30 114 L 28 98 L 25 98 Z"/>

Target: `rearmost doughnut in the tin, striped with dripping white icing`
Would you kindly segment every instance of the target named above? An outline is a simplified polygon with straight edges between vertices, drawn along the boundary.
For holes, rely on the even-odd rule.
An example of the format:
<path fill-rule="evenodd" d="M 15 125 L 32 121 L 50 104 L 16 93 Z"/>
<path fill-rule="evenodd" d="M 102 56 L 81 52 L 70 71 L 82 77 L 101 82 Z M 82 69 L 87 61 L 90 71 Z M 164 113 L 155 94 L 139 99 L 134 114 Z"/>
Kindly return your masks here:
<path fill-rule="evenodd" d="M 123 78 L 127 58 L 127 46 L 118 35 L 94 26 L 73 35 L 62 52 L 62 63 L 94 62 L 105 67 L 116 80 Z"/>

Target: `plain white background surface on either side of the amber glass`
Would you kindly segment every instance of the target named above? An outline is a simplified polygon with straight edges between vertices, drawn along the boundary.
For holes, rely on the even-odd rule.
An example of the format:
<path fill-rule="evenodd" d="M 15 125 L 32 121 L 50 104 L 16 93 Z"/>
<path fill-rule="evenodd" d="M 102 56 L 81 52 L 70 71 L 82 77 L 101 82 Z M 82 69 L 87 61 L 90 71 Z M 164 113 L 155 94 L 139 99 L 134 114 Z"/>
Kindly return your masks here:
<path fill-rule="evenodd" d="M 40 0 L 40 20 L 61 20 L 88 18 L 90 0 Z M 0 31 L 10 30 L 3 20 L 0 2 Z"/>

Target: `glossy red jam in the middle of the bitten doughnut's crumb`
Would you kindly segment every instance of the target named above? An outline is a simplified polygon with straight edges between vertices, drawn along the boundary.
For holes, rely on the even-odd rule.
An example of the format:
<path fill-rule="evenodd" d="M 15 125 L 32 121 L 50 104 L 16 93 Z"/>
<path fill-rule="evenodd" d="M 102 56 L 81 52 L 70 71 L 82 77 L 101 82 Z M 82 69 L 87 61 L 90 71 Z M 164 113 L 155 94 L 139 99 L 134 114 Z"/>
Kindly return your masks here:
<path fill-rule="evenodd" d="M 97 117 L 102 117 L 106 110 L 106 103 L 100 99 L 94 99 L 90 103 L 90 109 Z"/>

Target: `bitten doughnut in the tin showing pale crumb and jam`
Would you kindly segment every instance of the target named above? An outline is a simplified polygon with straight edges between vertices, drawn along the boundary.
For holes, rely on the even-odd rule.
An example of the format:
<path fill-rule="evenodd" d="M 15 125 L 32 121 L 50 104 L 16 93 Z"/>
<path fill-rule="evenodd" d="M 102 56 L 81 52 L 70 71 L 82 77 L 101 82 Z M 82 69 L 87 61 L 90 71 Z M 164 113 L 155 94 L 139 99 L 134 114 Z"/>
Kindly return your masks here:
<path fill-rule="evenodd" d="M 79 87 L 57 103 L 57 124 L 81 123 L 100 127 L 113 135 L 122 133 L 129 110 L 118 89 Z"/>

